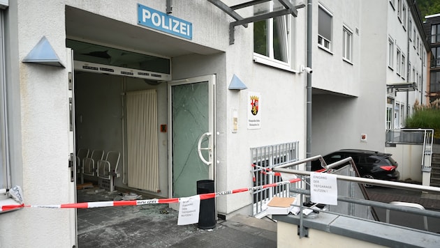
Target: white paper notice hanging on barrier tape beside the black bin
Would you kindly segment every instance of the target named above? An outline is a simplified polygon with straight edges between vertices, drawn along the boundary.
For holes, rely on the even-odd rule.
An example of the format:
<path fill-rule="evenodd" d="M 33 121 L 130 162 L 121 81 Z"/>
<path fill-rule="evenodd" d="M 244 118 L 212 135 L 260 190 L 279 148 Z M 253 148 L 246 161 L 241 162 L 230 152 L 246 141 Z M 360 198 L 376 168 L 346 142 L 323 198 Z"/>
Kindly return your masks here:
<path fill-rule="evenodd" d="M 182 197 L 179 202 L 179 219 L 177 219 L 177 225 L 198 223 L 200 196 Z"/>

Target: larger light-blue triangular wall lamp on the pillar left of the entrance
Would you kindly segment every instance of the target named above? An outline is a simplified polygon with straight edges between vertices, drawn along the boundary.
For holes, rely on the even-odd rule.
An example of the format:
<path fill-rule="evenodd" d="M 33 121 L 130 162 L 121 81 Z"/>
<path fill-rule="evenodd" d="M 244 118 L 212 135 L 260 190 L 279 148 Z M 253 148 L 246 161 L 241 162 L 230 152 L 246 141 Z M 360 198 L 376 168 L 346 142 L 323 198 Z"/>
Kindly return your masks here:
<path fill-rule="evenodd" d="M 45 36 L 43 36 L 31 52 L 27 54 L 23 62 L 65 67 Z"/>

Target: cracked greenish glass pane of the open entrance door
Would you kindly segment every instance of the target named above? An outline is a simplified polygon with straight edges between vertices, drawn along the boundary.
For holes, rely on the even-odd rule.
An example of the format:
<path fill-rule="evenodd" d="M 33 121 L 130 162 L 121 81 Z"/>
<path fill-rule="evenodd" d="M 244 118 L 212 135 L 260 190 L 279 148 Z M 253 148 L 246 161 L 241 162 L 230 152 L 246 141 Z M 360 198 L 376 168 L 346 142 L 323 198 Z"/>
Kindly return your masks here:
<path fill-rule="evenodd" d="M 198 140 L 208 132 L 208 82 L 172 87 L 173 197 L 197 194 L 197 181 L 209 176 L 208 166 L 198 157 Z M 208 146 L 203 140 L 201 148 Z M 202 150 L 207 160 L 207 150 Z"/>

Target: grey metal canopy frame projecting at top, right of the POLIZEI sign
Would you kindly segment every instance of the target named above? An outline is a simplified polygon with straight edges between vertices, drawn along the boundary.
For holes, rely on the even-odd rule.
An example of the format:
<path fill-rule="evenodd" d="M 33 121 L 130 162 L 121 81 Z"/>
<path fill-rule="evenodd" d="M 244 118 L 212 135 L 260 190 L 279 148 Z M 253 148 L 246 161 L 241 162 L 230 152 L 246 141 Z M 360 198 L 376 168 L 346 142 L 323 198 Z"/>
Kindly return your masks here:
<path fill-rule="evenodd" d="M 276 11 L 264 13 L 261 15 L 254 15 L 252 17 L 243 18 L 237 12 L 235 12 L 235 10 L 238 10 L 240 8 L 254 6 L 258 3 L 264 3 L 264 2 L 272 1 L 272 0 L 253 0 L 253 1 L 247 1 L 244 3 L 237 4 L 235 6 L 227 6 L 221 0 L 207 0 L 207 1 L 209 1 L 210 3 L 217 6 L 217 8 L 220 8 L 221 10 L 223 10 L 226 14 L 230 15 L 230 17 L 234 18 L 235 22 L 231 22 L 229 24 L 229 44 L 230 45 L 233 45 L 235 42 L 235 36 L 234 36 L 235 26 L 243 25 L 244 27 L 247 27 L 248 23 L 267 20 L 267 19 L 270 19 L 273 17 L 279 17 L 281 15 L 291 14 L 291 15 L 293 15 L 293 17 L 297 17 L 298 16 L 297 9 L 305 7 L 305 4 L 293 6 L 291 1 L 289 1 L 289 0 L 277 0 L 277 1 L 279 1 L 279 3 L 281 3 L 284 6 L 283 10 L 276 10 Z"/>

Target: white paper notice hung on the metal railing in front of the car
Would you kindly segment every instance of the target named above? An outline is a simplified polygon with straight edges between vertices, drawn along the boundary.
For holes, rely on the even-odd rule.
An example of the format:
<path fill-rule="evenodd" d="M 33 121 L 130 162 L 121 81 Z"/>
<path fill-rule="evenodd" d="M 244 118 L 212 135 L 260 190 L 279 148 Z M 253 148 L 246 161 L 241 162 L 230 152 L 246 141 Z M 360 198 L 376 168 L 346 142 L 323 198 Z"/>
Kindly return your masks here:
<path fill-rule="evenodd" d="M 314 203 L 337 205 L 336 175 L 310 173 L 310 200 Z"/>

